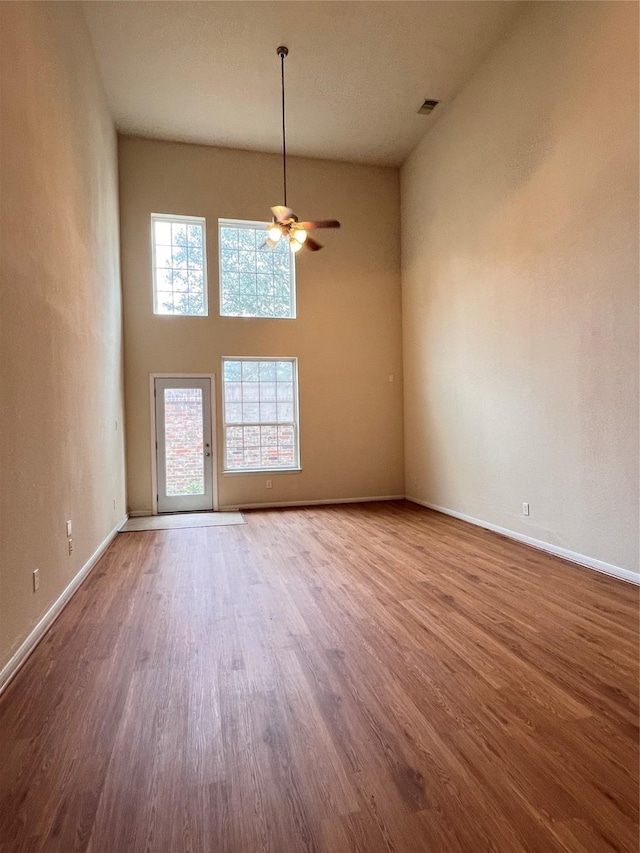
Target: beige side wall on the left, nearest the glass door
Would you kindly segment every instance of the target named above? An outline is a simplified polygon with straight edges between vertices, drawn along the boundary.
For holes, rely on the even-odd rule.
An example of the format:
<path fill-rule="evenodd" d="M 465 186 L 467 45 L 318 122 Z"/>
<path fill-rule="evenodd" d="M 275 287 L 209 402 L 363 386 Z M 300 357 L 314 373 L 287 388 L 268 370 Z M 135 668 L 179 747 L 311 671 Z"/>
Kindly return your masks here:
<path fill-rule="evenodd" d="M 115 132 L 79 6 L 0 9 L 1 670 L 125 494 Z"/>

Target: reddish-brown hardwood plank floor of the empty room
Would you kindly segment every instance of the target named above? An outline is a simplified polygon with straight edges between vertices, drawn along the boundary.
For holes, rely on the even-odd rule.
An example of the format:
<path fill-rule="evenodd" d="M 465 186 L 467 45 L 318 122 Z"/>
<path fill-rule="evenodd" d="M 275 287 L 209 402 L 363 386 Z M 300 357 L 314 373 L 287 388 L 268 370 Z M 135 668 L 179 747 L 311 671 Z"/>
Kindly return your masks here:
<path fill-rule="evenodd" d="M 118 536 L 0 699 L 3 853 L 638 851 L 638 589 L 408 503 Z"/>

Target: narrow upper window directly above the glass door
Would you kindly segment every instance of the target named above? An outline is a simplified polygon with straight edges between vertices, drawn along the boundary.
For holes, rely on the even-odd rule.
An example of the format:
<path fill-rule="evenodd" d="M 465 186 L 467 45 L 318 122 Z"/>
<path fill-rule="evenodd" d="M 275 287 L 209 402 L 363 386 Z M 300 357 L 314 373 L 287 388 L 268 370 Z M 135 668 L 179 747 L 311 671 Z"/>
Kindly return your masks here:
<path fill-rule="evenodd" d="M 151 214 L 155 314 L 206 317 L 205 233 L 199 216 Z"/>

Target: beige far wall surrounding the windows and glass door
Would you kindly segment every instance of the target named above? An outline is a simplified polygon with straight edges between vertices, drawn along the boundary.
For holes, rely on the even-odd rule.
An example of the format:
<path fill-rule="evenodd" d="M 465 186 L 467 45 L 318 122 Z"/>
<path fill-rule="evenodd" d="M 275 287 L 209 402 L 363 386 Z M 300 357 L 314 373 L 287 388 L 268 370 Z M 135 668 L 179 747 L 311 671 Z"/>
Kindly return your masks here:
<path fill-rule="evenodd" d="M 221 506 L 404 494 L 397 170 L 291 159 L 289 202 L 343 227 L 298 258 L 286 321 L 218 315 L 217 220 L 269 215 L 277 156 L 124 137 L 119 162 L 130 508 L 151 507 L 149 375 L 219 374 L 223 355 L 298 357 L 303 470 L 221 476 Z M 154 316 L 152 212 L 206 218 L 209 317 Z"/>

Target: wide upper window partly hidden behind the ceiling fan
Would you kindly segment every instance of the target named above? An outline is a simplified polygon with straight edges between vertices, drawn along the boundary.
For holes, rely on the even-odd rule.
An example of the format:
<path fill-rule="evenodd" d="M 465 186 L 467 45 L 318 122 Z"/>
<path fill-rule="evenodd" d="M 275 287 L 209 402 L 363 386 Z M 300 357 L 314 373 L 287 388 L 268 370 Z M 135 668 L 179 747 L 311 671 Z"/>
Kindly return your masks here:
<path fill-rule="evenodd" d="M 266 244 L 266 222 L 218 220 L 220 314 L 294 319 L 295 263 L 289 241 Z"/>

